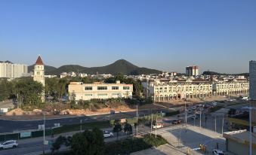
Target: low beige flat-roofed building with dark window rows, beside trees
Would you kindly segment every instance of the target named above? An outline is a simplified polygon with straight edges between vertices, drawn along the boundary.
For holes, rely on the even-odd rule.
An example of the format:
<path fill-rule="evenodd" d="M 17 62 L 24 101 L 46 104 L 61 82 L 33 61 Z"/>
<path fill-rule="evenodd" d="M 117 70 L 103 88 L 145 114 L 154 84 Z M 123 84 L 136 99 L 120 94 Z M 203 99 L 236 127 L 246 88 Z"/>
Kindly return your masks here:
<path fill-rule="evenodd" d="M 83 84 L 81 82 L 71 82 L 69 93 L 76 94 L 76 101 L 90 99 L 111 99 L 111 98 L 132 98 L 133 85 L 120 84 Z"/>

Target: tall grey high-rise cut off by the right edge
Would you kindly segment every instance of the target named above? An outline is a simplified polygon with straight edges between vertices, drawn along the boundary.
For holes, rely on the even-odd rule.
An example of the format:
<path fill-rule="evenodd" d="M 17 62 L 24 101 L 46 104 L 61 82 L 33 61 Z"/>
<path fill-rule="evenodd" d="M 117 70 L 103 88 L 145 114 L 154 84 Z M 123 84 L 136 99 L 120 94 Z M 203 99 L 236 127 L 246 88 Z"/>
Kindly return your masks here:
<path fill-rule="evenodd" d="M 251 99 L 251 106 L 256 108 L 256 61 L 250 61 L 249 63 L 249 97 Z M 256 123 L 256 110 L 252 110 L 251 112 L 252 122 Z"/>

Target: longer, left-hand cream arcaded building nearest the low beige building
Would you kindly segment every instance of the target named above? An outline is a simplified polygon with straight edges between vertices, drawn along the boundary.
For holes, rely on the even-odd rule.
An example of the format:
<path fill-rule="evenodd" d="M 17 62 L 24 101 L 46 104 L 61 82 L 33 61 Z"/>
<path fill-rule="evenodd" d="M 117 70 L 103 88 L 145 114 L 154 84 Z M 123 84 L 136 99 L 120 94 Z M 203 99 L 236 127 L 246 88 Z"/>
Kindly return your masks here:
<path fill-rule="evenodd" d="M 157 80 L 142 82 L 143 93 L 155 102 L 177 99 L 202 99 L 211 97 L 212 84 L 202 79 L 191 80 Z"/>

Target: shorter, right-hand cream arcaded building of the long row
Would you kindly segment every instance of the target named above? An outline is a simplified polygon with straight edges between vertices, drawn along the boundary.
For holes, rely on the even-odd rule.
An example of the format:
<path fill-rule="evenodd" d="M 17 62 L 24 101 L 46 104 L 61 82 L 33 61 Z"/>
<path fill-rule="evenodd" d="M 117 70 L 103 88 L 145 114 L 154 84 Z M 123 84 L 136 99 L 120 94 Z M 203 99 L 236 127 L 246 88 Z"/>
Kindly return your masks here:
<path fill-rule="evenodd" d="M 247 79 L 214 81 L 212 90 L 214 96 L 247 96 L 249 92 L 249 82 Z"/>

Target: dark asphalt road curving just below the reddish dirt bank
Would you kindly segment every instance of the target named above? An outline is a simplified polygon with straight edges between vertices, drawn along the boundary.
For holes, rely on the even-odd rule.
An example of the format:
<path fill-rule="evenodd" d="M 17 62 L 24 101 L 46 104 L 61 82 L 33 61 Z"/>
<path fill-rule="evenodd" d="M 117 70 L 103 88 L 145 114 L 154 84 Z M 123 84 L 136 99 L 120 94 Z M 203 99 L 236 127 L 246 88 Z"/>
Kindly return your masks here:
<path fill-rule="evenodd" d="M 152 110 L 153 113 L 160 112 L 161 110 Z M 162 109 L 162 111 L 168 111 L 166 109 Z M 114 115 L 111 115 L 111 119 L 121 119 L 128 117 L 136 117 L 136 111 L 131 112 L 118 112 Z M 139 116 L 147 116 L 151 114 L 151 110 L 141 110 L 138 111 Z M 57 118 L 45 121 L 45 127 L 51 128 L 54 126 L 54 123 L 60 123 L 60 126 L 69 125 L 69 124 L 77 124 L 80 123 L 89 123 L 95 122 L 99 120 L 109 120 L 109 114 L 100 114 L 94 116 L 82 116 L 82 117 L 67 117 L 67 118 Z M 20 130 L 27 129 L 38 129 L 38 126 L 43 124 L 43 120 L 0 120 L 0 133 L 3 132 L 16 132 Z"/>

